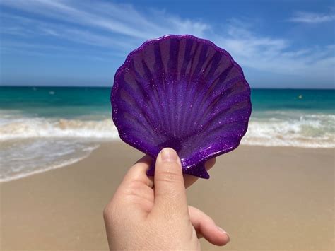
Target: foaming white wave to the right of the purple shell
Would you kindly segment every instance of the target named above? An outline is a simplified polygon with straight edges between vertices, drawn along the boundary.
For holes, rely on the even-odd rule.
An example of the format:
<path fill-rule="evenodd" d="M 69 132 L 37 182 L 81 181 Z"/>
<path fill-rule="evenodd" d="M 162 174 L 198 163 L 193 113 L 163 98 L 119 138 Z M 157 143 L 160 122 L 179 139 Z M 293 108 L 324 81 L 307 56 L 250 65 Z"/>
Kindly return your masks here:
<path fill-rule="evenodd" d="M 334 136 L 334 115 L 286 115 L 251 119 L 242 144 L 334 148 Z"/>

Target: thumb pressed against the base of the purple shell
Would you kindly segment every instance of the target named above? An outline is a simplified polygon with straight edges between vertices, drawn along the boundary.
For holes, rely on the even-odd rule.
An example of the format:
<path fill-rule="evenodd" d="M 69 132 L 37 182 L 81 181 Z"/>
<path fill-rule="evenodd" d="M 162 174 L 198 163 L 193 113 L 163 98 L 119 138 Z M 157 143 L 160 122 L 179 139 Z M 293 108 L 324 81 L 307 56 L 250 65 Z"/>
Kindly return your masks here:
<path fill-rule="evenodd" d="M 155 209 L 167 216 L 188 214 L 182 164 L 172 148 L 164 148 L 157 156 L 154 186 Z"/>

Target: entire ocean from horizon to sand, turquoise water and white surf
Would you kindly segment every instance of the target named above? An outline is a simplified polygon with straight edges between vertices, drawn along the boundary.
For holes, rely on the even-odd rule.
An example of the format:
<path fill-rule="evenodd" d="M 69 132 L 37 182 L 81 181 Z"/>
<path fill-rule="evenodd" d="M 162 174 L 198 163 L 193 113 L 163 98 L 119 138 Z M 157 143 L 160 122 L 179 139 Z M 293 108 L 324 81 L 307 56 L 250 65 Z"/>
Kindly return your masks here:
<path fill-rule="evenodd" d="M 242 145 L 335 147 L 335 90 L 252 89 Z M 0 87 L 0 182 L 86 158 L 118 141 L 110 88 Z"/>

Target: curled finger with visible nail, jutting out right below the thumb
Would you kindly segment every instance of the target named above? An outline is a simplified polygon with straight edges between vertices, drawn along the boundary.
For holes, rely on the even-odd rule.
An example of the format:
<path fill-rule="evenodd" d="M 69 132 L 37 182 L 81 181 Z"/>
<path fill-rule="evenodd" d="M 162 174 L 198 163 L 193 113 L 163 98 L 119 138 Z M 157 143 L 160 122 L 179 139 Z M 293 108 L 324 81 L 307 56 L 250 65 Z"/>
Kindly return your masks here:
<path fill-rule="evenodd" d="M 217 246 L 223 246 L 229 242 L 228 233 L 218 228 L 213 219 L 203 211 L 189 206 L 189 218 L 199 238 L 203 236 L 208 242 Z"/>

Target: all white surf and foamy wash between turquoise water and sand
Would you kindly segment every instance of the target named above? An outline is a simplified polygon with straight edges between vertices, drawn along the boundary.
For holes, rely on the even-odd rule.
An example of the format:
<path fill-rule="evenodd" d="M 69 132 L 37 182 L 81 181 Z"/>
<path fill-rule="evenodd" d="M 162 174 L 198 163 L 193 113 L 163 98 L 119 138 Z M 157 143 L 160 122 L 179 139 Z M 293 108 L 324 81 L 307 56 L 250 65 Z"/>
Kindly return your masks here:
<path fill-rule="evenodd" d="M 1 111 L 0 111 L 1 115 Z M 335 147 L 335 115 L 300 112 L 255 113 L 242 145 Z M 89 156 L 103 141 L 118 141 L 110 118 L 0 117 L 0 182 L 60 168 Z"/>

